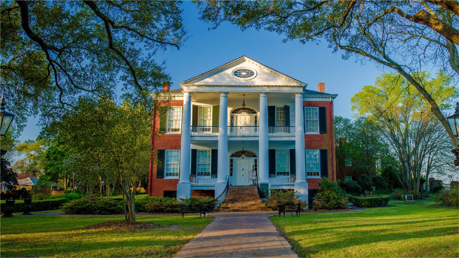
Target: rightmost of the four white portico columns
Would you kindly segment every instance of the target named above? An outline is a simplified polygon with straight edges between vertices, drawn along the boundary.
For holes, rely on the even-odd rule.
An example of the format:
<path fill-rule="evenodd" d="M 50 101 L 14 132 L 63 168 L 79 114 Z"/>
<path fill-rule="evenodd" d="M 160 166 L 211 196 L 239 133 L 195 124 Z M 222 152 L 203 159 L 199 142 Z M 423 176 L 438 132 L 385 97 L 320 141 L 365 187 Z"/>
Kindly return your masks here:
<path fill-rule="evenodd" d="M 308 182 L 306 181 L 306 164 L 304 155 L 304 115 L 303 93 L 295 93 L 295 166 L 297 179 L 295 191 L 298 191 L 302 199 L 308 200 Z"/>

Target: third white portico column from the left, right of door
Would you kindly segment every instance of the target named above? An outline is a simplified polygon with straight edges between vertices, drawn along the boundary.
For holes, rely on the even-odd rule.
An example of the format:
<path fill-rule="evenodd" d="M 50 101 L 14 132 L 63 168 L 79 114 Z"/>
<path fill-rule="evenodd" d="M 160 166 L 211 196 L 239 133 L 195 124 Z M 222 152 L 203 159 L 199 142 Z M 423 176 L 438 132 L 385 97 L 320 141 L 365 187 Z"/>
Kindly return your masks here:
<path fill-rule="evenodd" d="M 260 93 L 258 119 L 258 183 L 269 184 L 268 93 Z"/>

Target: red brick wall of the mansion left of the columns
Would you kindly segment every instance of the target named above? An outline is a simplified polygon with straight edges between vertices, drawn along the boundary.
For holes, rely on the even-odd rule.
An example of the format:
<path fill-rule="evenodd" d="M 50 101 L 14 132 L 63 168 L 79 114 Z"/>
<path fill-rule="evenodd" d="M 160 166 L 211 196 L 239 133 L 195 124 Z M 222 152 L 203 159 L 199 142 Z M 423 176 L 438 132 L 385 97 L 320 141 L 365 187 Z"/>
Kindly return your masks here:
<path fill-rule="evenodd" d="M 173 100 L 171 106 L 183 106 L 183 100 Z M 153 127 L 154 126 L 154 127 Z M 152 130 L 158 130 L 159 118 L 152 121 Z M 177 190 L 177 183 L 179 179 L 163 179 L 156 178 L 156 154 L 158 149 L 180 149 L 181 134 L 166 134 L 161 133 L 159 136 L 154 137 L 152 134 L 151 145 L 153 146 L 150 158 L 150 181 L 148 182 L 148 195 L 150 196 L 163 196 L 163 191 Z"/>

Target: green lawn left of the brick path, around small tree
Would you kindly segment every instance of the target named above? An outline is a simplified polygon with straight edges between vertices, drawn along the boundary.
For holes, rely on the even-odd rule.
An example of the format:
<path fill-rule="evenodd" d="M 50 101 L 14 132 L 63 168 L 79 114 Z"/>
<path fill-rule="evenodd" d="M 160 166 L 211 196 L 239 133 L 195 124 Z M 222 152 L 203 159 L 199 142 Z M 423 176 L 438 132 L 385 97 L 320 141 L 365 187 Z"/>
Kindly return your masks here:
<path fill-rule="evenodd" d="M 141 231 L 84 230 L 84 226 L 123 216 L 34 216 L 1 218 L 2 257 L 170 257 L 212 217 L 138 216 L 162 225 Z"/>

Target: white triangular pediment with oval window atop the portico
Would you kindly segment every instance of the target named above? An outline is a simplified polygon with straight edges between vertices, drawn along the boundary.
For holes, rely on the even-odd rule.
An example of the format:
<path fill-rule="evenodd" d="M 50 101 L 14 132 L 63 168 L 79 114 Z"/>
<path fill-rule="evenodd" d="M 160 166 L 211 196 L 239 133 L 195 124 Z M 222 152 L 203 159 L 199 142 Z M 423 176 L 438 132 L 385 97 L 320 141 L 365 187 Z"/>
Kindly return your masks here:
<path fill-rule="evenodd" d="M 238 69 L 250 71 L 251 77 L 239 78 L 235 76 L 234 72 Z M 306 86 L 307 84 L 246 56 L 241 56 L 211 71 L 181 82 L 180 85 Z"/>

